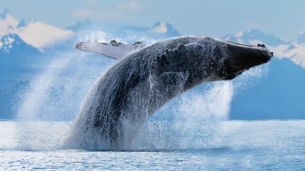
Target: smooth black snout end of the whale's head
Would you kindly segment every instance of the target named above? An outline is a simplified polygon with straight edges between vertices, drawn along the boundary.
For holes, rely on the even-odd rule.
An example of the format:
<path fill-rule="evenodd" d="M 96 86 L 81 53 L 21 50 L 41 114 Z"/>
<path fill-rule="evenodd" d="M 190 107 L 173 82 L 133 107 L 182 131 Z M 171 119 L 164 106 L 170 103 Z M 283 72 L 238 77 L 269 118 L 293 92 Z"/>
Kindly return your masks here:
<path fill-rule="evenodd" d="M 225 41 L 225 44 L 227 56 L 219 73 L 224 79 L 233 79 L 252 67 L 267 63 L 273 56 L 265 45 L 250 46 L 231 41 Z"/>

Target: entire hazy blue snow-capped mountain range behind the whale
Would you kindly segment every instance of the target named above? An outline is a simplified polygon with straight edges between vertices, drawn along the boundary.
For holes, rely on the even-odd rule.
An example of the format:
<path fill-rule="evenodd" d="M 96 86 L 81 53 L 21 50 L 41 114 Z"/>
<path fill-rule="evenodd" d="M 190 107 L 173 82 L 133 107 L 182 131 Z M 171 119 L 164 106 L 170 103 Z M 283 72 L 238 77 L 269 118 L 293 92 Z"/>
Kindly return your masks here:
<path fill-rule="evenodd" d="M 48 54 L 62 47 L 72 51 L 79 32 L 93 27 L 99 25 L 87 21 L 62 29 L 38 21 L 27 23 L 17 21 L 5 10 L 0 15 L 0 119 L 13 117 L 19 91 L 29 86 L 32 75 L 40 71 L 39 66 L 32 65 L 36 60 L 50 59 Z M 173 25 L 163 22 L 152 27 L 122 26 L 117 32 L 117 37 L 133 33 L 154 40 L 181 36 Z M 266 76 L 242 81 L 243 89 L 232 101 L 231 119 L 305 119 L 305 31 L 290 42 L 258 29 L 225 35 L 223 39 L 265 44 L 274 51 Z"/>

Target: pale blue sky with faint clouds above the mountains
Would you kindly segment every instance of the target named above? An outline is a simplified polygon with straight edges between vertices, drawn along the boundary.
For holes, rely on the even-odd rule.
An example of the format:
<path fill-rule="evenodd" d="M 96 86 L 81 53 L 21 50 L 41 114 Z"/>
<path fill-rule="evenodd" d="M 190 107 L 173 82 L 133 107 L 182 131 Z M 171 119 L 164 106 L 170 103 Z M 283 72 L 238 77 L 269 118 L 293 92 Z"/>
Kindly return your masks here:
<path fill-rule="evenodd" d="M 222 38 L 253 28 L 294 41 L 305 30 L 305 0 L 0 0 L 18 20 L 61 28 L 90 20 L 151 27 L 158 21 L 183 35 Z"/>

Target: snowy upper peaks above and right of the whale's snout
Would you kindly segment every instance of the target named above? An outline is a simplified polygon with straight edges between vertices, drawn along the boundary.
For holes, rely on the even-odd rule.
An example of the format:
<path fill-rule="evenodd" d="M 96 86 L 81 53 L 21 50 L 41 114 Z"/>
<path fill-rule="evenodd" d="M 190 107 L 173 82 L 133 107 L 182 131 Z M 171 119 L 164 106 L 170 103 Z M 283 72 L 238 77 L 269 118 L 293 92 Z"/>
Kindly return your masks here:
<path fill-rule="evenodd" d="M 225 35 L 223 38 L 249 45 L 265 44 L 268 49 L 274 52 L 275 57 L 279 59 L 288 58 L 305 68 L 305 32 L 301 32 L 297 41 L 293 42 L 285 42 L 258 29 L 241 31 L 236 35 Z"/>

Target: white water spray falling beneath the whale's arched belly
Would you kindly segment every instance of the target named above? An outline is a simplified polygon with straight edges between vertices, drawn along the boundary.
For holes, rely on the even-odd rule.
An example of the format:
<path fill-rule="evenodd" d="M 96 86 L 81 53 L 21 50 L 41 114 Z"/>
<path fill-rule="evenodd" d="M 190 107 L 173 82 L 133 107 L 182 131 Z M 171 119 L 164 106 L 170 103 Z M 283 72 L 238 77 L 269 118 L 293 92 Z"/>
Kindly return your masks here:
<path fill-rule="evenodd" d="M 146 122 L 132 144 L 132 149 L 188 149 L 213 146 L 221 121 L 228 118 L 233 84 L 213 83 L 207 91 L 202 86 L 186 92 L 163 106 Z"/>

